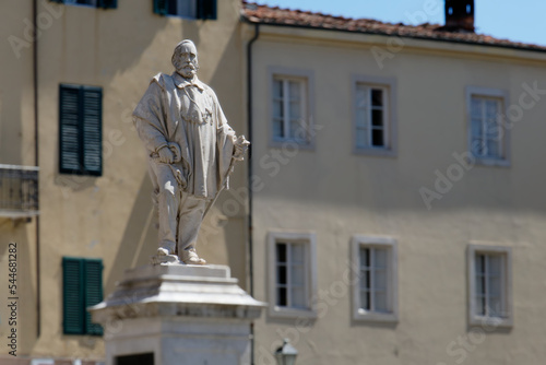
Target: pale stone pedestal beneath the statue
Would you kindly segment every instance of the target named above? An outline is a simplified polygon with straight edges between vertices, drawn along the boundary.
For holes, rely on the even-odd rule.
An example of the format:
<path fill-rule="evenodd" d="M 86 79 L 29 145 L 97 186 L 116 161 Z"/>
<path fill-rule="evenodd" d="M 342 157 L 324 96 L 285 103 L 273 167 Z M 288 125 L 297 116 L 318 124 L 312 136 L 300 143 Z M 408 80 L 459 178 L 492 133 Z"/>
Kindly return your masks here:
<path fill-rule="evenodd" d="M 250 364 L 253 299 L 224 266 L 146 266 L 128 270 L 92 307 L 104 326 L 106 364 Z"/>

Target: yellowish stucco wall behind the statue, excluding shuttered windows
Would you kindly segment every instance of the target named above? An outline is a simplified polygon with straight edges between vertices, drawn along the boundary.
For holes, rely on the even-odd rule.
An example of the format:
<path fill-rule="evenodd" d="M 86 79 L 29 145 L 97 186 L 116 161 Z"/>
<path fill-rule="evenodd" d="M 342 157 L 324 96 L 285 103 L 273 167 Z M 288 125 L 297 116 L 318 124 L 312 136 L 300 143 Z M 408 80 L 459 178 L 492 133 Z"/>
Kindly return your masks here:
<path fill-rule="evenodd" d="M 22 19 L 32 20 L 32 1 L 9 2 L 0 4 L 1 27 L 22 37 Z M 204 22 L 155 15 L 149 0 L 120 0 L 115 10 L 38 1 L 38 14 L 56 14 L 38 39 L 41 335 L 35 338 L 36 301 L 27 290 L 22 355 L 104 358 L 102 339 L 62 333 L 61 258 L 103 258 L 108 294 L 124 269 L 147 263 L 154 254 L 157 229 L 152 186 L 131 113 L 154 74 L 173 72 L 170 57 L 178 42 L 195 42 L 200 79 L 215 90 L 234 129 L 245 133 L 239 7 L 238 0 L 218 1 L 218 20 Z M 5 59 L 0 72 L 0 163 L 33 164 L 32 51 L 24 50 L 21 60 L 14 60 L 5 43 L 0 47 Z M 102 177 L 58 173 L 60 83 L 103 87 Z M 245 164 L 237 166 L 234 187 L 246 184 L 245 169 Z M 229 193 L 210 213 L 198 249 L 211 263 L 229 264 L 246 285 L 247 202 L 236 200 L 237 209 L 224 214 L 221 208 L 227 199 Z M 20 267 L 34 278 L 34 225 L 11 228 L 7 222 L 0 222 L 2 255 L 9 240 L 24 243 L 29 258 Z M 28 282 L 29 287 L 34 284 Z M 3 337 L 5 328 L 0 328 Z M 1 346 L 0 354 L 4 353 Z"/>

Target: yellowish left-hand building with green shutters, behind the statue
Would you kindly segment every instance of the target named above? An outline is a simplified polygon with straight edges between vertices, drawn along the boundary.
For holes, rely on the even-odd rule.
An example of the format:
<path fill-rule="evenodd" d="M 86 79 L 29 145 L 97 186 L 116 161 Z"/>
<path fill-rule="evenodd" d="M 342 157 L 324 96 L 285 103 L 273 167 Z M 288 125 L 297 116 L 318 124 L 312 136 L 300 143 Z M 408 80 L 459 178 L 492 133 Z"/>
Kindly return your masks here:
<path fill-rule="evenodd" d="M 147 263 L 156 250 L 152 184 L 131 115 L 152 76 L 173 72 L 180 40 L 194 40 L 200 80 L 216 92 L 232 127 L 246 133 L 240 2 L 185 3 L 0 4 L 7 40 L 0 46 L 1 289 L 10 293 L 9 243 L 16 243 L 11 296 L 19 297 L 16 325 L 7 320 L 10 308 L 0 309 L 2 338 L 16 330 L 17 357 L 2 345 L 0 363 L 104 361 L 103 331 L 85 306 L 111 293 L 126 269 Z M 33 175 L 25 177 L 23 166 L 36 165 L 39 172 L 29 168 Z M 246 175 L 241 163 L 232 184 L 244 185 Z M 19 196 L 35 180 L 39 208 L 29 208 Z M 221 198 L 216 207 L 222 204 Z M 198 245 L 209 261 L 229 264 L 242 286 L 246 204 L 230 202 L 229 214 L 213 209 Z"/>

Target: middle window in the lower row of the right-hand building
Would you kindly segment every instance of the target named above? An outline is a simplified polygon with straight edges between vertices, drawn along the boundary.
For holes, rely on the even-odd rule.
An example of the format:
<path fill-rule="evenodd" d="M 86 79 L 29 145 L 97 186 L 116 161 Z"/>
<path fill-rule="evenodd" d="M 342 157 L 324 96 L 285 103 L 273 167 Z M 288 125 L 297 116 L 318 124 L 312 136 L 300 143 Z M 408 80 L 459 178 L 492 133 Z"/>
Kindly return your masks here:
<path fill-rule="evenodd" d="M 353 319 L 397 320 L 396 242 L 353 237 Z"/>

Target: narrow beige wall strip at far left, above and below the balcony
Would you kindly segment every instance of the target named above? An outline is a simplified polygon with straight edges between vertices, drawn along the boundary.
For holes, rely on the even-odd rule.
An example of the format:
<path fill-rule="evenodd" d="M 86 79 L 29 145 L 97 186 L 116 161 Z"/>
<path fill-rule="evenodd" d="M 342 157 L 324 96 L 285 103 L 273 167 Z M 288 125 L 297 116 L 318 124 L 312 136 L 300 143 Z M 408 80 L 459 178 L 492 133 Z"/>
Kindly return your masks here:
<path fill-rule="evenodd" d="M 32 89 L 32 47 L 25 20 L 32 19 L 31 1 L 2 1 L 0 3 L 0 164 L 34 166 L 34 94 Z M 10 16 L 5 15 L 10 14 Z M 14 37 L 21 39 L 20 43 Z M 13 48 L 20 45 L 22 48 Z M 17 244 L 16 326 L 8 308 L 10 295 L 9 244 Z M 36 220 L 0 217 L 0 337 L 5 339 L 0 354 L 7 346 L 11 328 L 16 329 L 17 352 L 28 353 L 36 339 Z M 11 325 L 10 325 L 11 322 Z"/>

